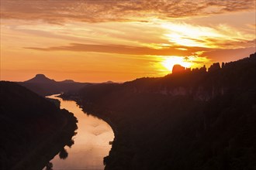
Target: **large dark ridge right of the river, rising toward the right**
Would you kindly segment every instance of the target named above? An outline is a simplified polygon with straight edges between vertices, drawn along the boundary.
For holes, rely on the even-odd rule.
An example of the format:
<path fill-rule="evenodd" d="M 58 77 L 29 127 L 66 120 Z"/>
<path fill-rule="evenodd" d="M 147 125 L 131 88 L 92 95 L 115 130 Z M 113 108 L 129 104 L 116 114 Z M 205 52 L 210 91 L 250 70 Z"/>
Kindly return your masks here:
<path fill-rule="evenodd" d="M 254 53 L 208 72 L 90 85 L 78 104 L 114 128 L 106 170 L 256 169 L 255 77 Z"/>

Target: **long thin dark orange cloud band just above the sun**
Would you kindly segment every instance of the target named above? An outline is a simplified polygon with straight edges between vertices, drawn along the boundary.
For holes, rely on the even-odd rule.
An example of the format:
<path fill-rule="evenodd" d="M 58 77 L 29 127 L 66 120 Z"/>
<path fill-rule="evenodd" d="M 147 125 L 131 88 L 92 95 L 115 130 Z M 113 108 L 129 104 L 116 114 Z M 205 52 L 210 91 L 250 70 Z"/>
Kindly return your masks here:
<path fill-rule="evenodd" d="M 188 46 L 164 46 L 162 49 L 153 49 L 150 47 L 140 47 L 140 46 L 123 46 L 123 45 L 95 45 L 95 44 L 80 44 L 80 43 L 71 43 L 69 46 L 51 46 L 46 48 L 40 47 L 24 47 L 25 49 L 33 49 L 38 51 L 45 52 L 54 52 L 54 51 L 69 51 L 69 52 L 94 52 L 94 53 L 109 53 L 109 54 L 119 54 L 129 55 L 128 58 L 133 58 L 132 56 L 140 56 L 139 59 L 144 59 L 144 56 L 158 56 L 158 59 L 164 58 L 164 56 L 194 56 L 197 57 L 197 61 L 200 58 L 209 58 L 213 61 L 218 62 L 228 62 L 231 60 L 240 59 L 241 57 L 247 56 L 248 53 L 254 53 L 255 47 L 247 48 L 237 48 L 237 49 L 210 49 L 203 47 L 188 47 Z M 183 50 L 183 49 L 187 50 Z M 161 56 L 161 57 L 160 57 Z M 160 57 L 160 58 L 159 58 Z M 153 57 L 155 58 L 155 57 Z M 153 59 L 152 58 L 152 59 Z M 148 61 L 158 62 L 158 60 L 151 60 L 146 57 Z M 193 61 L 196 63 L 196 61 Z M 197 66 L 197 65 L 196 65 Z M 199 65 L 198 65 L 199 66 Z"/>

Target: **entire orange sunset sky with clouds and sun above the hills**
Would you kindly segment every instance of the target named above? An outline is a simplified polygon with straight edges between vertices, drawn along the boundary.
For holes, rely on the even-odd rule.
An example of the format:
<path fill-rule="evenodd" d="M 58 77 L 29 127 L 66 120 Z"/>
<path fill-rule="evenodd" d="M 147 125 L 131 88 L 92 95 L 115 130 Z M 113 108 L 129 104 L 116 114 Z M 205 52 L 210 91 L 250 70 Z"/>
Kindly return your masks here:
<path fill-rule="evenodd" d="M 255 52 L 254 0 L 1 0 L 1 80 L 123 82 Z"/>

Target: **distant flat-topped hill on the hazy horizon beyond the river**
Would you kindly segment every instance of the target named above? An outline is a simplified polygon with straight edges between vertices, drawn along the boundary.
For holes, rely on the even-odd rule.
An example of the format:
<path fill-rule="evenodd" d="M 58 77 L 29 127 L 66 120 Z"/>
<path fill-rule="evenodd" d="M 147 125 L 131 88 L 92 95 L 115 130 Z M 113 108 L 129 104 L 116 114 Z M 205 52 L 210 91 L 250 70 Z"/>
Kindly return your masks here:
<path fill-rule="evenodd" d="M 27 87 L 29 90 L 40 94 L 41 96 L 47 96 L 55 93 L 74 92 L 89 84 L 74 82 L 74 80 L 64 80 L 57 82 L 55 80 L 49 79 L 43 74 L 36 74 L 36 76 L 32 79 L 18 83 L 24 87 Z"/>

